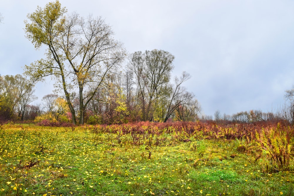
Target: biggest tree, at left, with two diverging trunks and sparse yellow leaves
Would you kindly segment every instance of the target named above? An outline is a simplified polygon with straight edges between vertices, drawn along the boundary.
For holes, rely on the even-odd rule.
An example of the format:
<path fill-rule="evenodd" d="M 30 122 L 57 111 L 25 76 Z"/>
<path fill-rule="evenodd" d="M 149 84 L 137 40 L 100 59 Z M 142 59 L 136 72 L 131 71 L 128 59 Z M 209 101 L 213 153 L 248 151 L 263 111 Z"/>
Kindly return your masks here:
<path fill-rule="evenodd" d="M 65 93 L 73 123 L 79 114 L 83 124 L 87 104 L 108 73 L 123 61 L 125 51 L 101 17 L 85 19 L 66 12 L 56 1 L 27 15 L 26 37 L 36 49 L 46 46 L 47 50 L 45 59 L 25 66 L 25 74 L 33 81 L 43 81 L 46 76 L 56 80 L 55 87 Z M 72 93 L 78 93 L 79 111 L 73 107 Z"/>

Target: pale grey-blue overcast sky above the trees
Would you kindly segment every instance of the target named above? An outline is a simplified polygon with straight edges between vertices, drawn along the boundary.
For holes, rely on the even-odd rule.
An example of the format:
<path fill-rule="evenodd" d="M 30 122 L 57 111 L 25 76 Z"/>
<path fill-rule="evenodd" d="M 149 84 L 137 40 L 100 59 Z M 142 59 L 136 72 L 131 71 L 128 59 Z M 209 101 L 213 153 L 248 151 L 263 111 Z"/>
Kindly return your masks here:
<path fill-rule="evenodd" d="M 44 0 L 0 0 L 0 74 L 22 74 L 43 58 L 25 38 L 27 14 Z M 165 50 L 175 56 L 173 76 L 187 71 L 183 85 L 202 112 L 275 111 L 294 84 L 294 1 L 291 0 L 59 0 L 68 13 L 101 16 L 128 53 Z M 53 81 L 38 83 L 39 101 Z"/>

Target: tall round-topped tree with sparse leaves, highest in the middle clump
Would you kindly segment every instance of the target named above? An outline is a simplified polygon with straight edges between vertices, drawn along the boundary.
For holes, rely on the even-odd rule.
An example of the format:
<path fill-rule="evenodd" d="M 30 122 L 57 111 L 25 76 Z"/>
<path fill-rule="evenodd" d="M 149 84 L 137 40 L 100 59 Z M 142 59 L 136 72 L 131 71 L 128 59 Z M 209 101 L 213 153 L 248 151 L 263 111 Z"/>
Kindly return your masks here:
<path fill-rule="evenodd" d="M 129 68 L 135 76 L 143 121 L 153 120 L 156 103 L 170 90 L 168 85 L 174 58 L 171 53 L 156 49 L 130 55 Z"/>

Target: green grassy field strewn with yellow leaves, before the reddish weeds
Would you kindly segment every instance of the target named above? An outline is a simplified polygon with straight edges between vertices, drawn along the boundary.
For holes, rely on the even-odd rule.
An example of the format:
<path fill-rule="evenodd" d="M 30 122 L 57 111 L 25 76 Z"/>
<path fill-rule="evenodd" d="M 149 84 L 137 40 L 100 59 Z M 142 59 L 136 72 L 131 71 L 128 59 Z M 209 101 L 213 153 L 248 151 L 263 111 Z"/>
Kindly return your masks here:
<path fill-rule="evenodd" d="M 293 170 L 267 164 L 238 140 L 0 128 L 0 195 L 294 195 Z"/>

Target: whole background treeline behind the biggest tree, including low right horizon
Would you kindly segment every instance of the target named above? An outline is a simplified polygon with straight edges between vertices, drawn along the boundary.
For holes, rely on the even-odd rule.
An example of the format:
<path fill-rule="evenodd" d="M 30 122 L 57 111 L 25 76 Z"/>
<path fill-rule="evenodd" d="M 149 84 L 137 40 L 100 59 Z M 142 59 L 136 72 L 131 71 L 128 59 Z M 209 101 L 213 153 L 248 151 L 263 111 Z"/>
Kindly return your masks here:
<path fill-rule="evenodd" d="M 294 122 L 294 103 L 291 99 L 275 112 L 265 113 L 261 110 L 250 110 L 233 115 L 222 115 L 219 110 L 216 110 L 213 116 L 201 114 L 198 100 L 193 93 L 181 86 L 191 76 L 183 72 L 180 77 L 175 77 L 171 82 L 173 69 L 171 63 L 168 64 L 169 69 L 165 68 L 168 70 L 165 76 L 161 74 L 163 78 L 160 78 L 158 74 L 158 81 L 164 82 L 160 82 L 157 86 L 151 85 L 151 79 L 156 81 L 156 73 L 151 73 L 152 69 L 148 67 L 146 59 L 141 64 L 134 63 L 134 57 L 138 59 L 139 56 L 143 59 L 150 52 L 165 53 L 173 58 L 170 53 L 157 50 L 131 54 L 128 65 L 119 73 L 108 74 L 103 85 L 99 87 L 98 93 L 85 110 L 85 123 L 115 124 L 138 121 L 166 122 L 167 120 L 215 121 L 225 124 L 277 122 L 280 120 Z M 141 72 L 138 73 L 138 70 Z M 151 75 L 153 77 L 147 79 Z M 156 83 L 154 81 L 153 83 Z M 64 96 L 47 94 L 41 99 L 41 103 L 32 105 L 31 103 L 37 99 L 34 95 L 34 85 L 19 74 L 0 76 L 0 86 L 1 122 L 8 120 L 34 121 L 41 125 L 72 123 L 71 113 Z M 152 87 L 154 89 L 151 89 Z M 149 92 L 153 92 L 153 95 Z M 287 96 L 289 96 L 288 94 Z M 71 100 L 75 110 L 78 111 L 78 94 L 72 93 Z"/>

